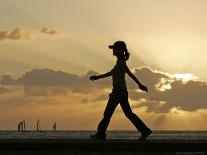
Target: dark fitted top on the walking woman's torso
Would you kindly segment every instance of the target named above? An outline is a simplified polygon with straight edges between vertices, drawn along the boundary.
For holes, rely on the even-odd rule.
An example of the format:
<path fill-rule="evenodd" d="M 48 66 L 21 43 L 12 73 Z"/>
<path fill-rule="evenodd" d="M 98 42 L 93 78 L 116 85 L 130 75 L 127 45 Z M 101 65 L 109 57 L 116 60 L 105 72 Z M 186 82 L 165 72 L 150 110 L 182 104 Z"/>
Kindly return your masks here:
<path fill-rule="evenodd" d="M 124 87 L 126 88 L 125 74 L 126 74 L 126 61 L 118 59 L 112 71 L 113 88 Z"/>

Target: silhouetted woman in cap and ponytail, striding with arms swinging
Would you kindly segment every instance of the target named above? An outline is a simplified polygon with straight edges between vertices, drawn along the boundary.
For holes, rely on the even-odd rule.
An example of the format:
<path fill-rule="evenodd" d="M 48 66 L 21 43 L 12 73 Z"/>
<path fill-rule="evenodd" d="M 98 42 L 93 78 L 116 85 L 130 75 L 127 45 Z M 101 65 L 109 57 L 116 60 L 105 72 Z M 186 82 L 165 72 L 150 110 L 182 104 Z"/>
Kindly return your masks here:
<path fill-rule="evenodd" d="M 106 129 L 109 125 L 115 108 L 120 103 L 126 117 L 134 124 L 137 130 L 141 132 L 141 137 L 139 139 L 145 140 L 152 131 L 136 114 L 132 112 L 130 108 L 125 74 L 127 73 L 137 83 L 141 90 L 147 92 L 148 89 L 138 81 L 138 79 L 131 73 L 126 65 L 126 61 L 129 59 L 129 52 L 125 42 L 117 41 L 113 45 L 110 45 L 109 48 L 113 50 L 113 55 L 117 57 L 116 65 L 108 73 L 90 77 L 90 80 L 93 81 L 112 76 L 113 81 L 113 89 L 111 94 L 109 94 L 109 100 L 104 111 L 103 119 L 98 125 L 97 133 L 95 135 L 91 135 L 90 137 L 93 139 L 106 139 Z"/>

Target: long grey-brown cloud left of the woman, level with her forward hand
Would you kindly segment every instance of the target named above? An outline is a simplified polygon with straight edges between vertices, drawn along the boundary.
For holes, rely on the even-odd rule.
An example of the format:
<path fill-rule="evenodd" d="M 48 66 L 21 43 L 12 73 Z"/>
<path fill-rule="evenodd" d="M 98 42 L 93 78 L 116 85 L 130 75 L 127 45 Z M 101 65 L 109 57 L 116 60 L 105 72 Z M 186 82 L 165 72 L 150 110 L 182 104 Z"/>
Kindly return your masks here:
<path fill-rule="evenodd" d="M 22 85 L 27 95 L 64 95 L 69 91 L 74 93 L 89 93 L 96 89 L 89 81 L 89 71 L 84 76 L 79 76 L 63 71 L 51 69 L 33 69 L 25 72 L 15 80 L 15 84 Z M 96 73 L 98 74 L 98 73 Z"/>

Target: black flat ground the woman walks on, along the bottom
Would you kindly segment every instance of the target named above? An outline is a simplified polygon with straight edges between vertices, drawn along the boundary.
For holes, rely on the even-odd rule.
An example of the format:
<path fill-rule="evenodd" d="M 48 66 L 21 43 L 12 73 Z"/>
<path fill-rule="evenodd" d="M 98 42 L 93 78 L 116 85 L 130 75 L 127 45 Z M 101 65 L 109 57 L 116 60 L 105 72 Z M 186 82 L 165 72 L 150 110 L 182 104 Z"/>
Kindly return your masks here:
<path fill-rule="evenodd" d="M 43 155 L 82 155 L 82 154 L 207 154 L 206 140 L 127 140 L 109 139 L 8 139 L 0 140 L 0 155 L 43 154 Z"/>

